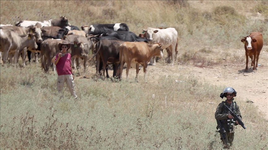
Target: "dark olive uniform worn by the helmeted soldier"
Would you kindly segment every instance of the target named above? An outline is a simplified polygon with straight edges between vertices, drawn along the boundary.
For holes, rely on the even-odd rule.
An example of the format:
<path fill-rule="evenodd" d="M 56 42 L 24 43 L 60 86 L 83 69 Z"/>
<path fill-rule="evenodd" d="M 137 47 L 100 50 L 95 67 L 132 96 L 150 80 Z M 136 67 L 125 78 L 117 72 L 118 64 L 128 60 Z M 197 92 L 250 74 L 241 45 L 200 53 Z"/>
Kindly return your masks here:
<path fill-rule="evenodd" d="M 242 120 L 242 116 L 240 114 L 239 106 L 237 104 L 235 105 L 233 101 L 232 101 L 232 103 L 231 104 L 232 104 L 233 108 L 236 107 L 236 111 L 235 111 L 236 114 Z M 223 143 L 224 148 L 230 148 L 232 146 L 232 143 L 233 143 L 233 140 L 234 140 L 234 133 L 230 133 L 229 130 L 228 130 L 229 129 L 228 124 L 227 124 L 227 120 L 229 119 L 227 117 L 228 116 L 228 110 L 226 110 L 226 108 L 224 109 L 224 104 L 230 108 L 231 104 L 229 104 L 226 101 L 221 102 L 218 105 L 217 110 L 215 112 L 215 119 L 221 120 L 221 124 L 224 127 L 224 129 L 226 130 L 226 133 L 225 133 L 226 139 L 221 140 L 222 143 Z M 230 108 L 230 109 L 232 110 L 232 108 Z M 235 124 L 235 125 L 237 125 L 237 124 Z M 220 135 L 221 135 L 221 133 L 220 133 Z M 221 135 L 221 138 L 222 138 L 222 135 Z"/>

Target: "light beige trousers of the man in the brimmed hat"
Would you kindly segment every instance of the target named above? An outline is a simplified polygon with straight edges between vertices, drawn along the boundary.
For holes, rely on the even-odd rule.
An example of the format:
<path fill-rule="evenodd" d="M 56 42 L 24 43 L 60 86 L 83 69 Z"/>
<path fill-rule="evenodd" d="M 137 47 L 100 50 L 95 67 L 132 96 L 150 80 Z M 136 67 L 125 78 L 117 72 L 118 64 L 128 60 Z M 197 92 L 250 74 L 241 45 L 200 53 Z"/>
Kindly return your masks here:
<path fill-rule="evenodd" d="M 74 91 L 74 78 L 72 74 L 60 75 L 57 79 L 57 90 L 60 92 L 63 88 L 64 82 L 66 82 L 67 87 L 69 88 L 71 95 L 75 98 L 77 97 Z"/>

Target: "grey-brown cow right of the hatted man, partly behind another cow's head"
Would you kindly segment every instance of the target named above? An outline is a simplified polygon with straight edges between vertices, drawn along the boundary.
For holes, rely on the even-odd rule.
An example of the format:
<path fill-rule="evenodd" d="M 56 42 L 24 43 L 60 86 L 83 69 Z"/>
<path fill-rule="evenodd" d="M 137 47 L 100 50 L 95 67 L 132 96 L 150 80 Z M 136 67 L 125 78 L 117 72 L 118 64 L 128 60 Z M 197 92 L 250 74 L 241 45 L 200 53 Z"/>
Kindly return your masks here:
<path fill-rule="evenodd" d="M 94 51 L 94 43 L 90 40 L 90 37 L 83 37 L 80 35 L 64 35 L 63 36 L 64 40 L 67 40 L 71 43 L 71 56 L 72 56 L 72 62 L 73 62 L 73 68 L 76 68 L 76 63 L 79 67 L 79 58 L 83 58 L 84 59 L 84 71 L 87 68 L 87 58 L 88 58 L 88 53 L 90 50 L 92 50 L 92 53 Z M 77 43 L 83 43 L 84 45 L 84 50 L 74 50 L 75 47 L 72 46 L 72 43 L 74 42 Z M 82 53 L 81 53 L 82 52 Z M 86 54 L 86 55 L 85 55 Z M 76 58 L 76 59 L 75 59 Z M 75 61 L 76 60 L 76 63 Z"/>

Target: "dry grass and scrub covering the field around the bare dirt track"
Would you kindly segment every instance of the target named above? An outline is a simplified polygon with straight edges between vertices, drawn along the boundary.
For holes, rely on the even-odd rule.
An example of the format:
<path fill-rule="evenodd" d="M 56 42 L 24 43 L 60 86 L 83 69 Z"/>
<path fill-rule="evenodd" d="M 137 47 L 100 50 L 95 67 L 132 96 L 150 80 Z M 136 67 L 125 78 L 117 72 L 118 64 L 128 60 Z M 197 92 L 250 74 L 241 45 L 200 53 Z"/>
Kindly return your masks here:
<path fill-rule="evenodd" d="M 226 51 L 241 49 L 242 35 L 252 31 L 263 34 L 267 47 L 267 5 L 267 1 L 1 1 L 0 22 L 14 25 L 65 15 L 78 27 L 127 23 L 137 35 L 147 27 L 174 27 L 180 38 L 176 65 L 212 67 L 244 62 L 244 54 Z M 86 73 L 83 69 L 75 73 L 78 100 L 67 88 L 59 100 L 56 76 L 44 74 L 39 65 L 1 66 L 0 148 L 221 149 L 216 107 L 208 102 L 218 100 L 224 87 L 189 74 L 161 74 L 168 72 L 167 63 L 164 59 L 158 63 L 159 74 L 149 72 L 147 83 L 136 83 L 134 74 L 121 82 L 98 79 L 91 61 Z M 239 106 L 247 129 L 238 127 L 233 148 L 267 149 L 267 120 L 253 105 Z"/>

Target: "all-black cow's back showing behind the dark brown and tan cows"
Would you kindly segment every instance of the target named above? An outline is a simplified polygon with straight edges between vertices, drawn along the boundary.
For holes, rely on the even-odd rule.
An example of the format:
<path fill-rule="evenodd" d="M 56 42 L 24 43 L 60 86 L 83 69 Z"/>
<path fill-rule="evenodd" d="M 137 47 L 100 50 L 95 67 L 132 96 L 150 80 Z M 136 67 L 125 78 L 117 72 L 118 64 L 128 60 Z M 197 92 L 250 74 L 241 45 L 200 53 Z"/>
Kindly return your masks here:
<path fill-rule="evenodd" d="M 128 41 L 128 42 L 148 42 L 146 38 L 141 38 L 137 36 L 135 33 L 130 31 L 112 31 L 112 30 L 106 30 L 102 36 L 114 36 L 119 40 L 122 41 Z"/>

